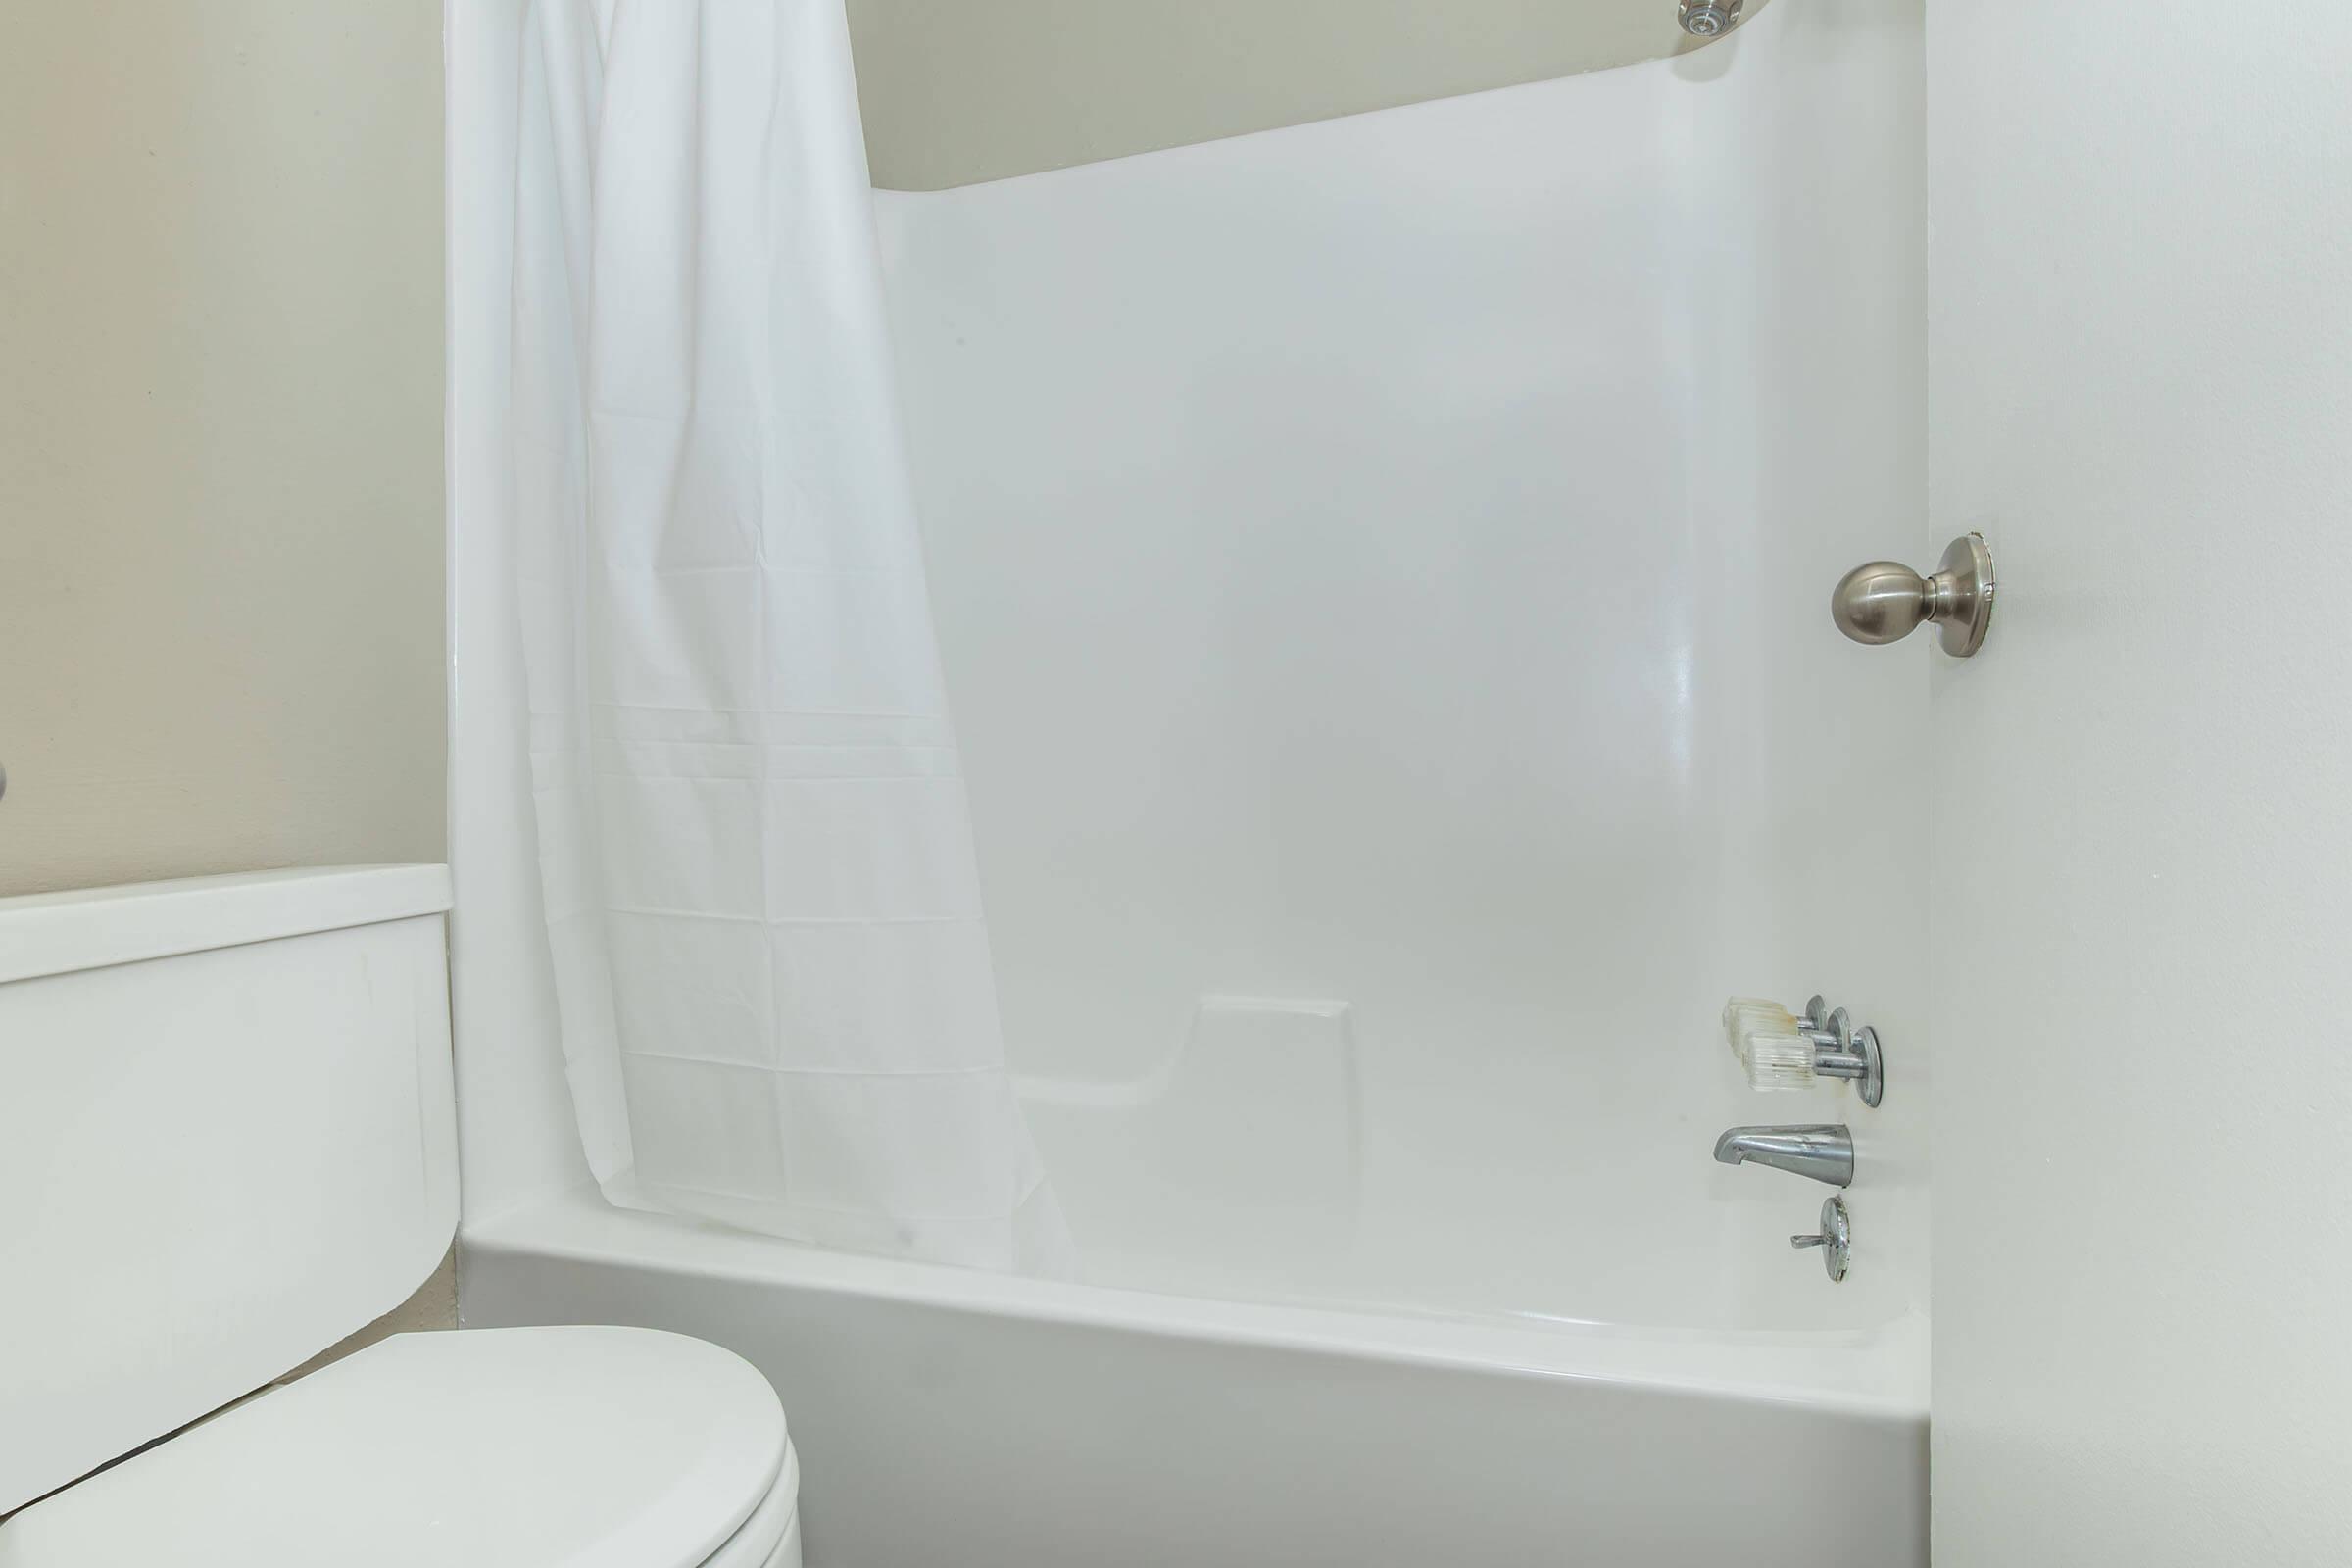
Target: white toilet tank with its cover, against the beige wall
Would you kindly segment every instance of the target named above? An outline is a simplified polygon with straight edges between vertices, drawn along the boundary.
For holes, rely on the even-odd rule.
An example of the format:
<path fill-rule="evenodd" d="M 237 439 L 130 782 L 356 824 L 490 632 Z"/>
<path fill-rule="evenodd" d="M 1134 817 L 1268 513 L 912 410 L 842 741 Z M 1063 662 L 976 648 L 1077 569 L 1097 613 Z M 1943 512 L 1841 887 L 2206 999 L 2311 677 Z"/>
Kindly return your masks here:
<path fill-rule="evenodd" d="M 0 1512 L 433 1272 L 447 907 L 440 865 L 0 898 Z"/>

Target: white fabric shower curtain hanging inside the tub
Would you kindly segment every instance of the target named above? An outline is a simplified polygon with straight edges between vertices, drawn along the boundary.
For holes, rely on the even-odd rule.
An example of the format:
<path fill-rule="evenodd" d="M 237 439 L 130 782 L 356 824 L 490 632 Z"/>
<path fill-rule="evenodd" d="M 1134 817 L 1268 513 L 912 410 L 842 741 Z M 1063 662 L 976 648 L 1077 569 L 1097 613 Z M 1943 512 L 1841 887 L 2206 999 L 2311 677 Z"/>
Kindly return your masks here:
<path fill-rule="evenodd" d="M 539 0 L 517 89 L 515 604 L 590 1166 L 623 1204 L 1061 1269 L 842 0 Z"/>

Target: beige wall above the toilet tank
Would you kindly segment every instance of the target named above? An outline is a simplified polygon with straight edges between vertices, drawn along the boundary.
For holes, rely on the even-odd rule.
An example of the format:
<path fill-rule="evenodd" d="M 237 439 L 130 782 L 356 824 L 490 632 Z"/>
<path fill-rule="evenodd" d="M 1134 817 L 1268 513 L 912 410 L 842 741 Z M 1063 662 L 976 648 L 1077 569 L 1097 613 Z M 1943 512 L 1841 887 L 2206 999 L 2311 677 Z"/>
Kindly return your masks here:
<path fill-rule="evenodd" d="M 0 40 L 0 893 L 437 860 L 440 0 Z"/>

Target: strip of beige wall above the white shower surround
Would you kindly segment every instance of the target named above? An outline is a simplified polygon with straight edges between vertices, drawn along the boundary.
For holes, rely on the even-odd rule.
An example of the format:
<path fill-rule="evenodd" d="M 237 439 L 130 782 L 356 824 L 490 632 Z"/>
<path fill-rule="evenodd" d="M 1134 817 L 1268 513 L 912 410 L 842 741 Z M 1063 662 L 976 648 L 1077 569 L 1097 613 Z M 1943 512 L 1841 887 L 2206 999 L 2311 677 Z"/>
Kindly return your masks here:
<path fill-rule="evenodd" d="M 1693 47 L 1675 0 L 849 0 L 849 28 L 866 153 L 889 190 Z"/>

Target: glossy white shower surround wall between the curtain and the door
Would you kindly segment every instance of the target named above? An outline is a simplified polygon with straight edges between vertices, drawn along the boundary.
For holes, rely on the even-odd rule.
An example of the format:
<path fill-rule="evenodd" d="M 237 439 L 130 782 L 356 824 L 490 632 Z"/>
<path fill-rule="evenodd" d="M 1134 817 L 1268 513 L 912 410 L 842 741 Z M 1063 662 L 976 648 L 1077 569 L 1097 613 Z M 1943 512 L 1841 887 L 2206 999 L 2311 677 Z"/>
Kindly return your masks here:
<path fill-rule="evenodd" d="M 1917 181 L 1915 7 L 1780 0 L 1677 63 L 887 200 L 1007 1034 L 1089 1258 L 1919 1305 L 1924 889 L 1884 867 L 1926 651 L 1825 614 L 1924 548 Z M 1886 1032 L 1882 1112 L 1738 1086 L 1724 992 L 1816 985 Z M 1204 994 L 1345 1001 L 1352 1046 L 1204 1046 Z M 1823 1190 L 1708 1150 L 1846 1114 L 1830 1291 L 1788 1248 Z"/>

